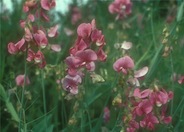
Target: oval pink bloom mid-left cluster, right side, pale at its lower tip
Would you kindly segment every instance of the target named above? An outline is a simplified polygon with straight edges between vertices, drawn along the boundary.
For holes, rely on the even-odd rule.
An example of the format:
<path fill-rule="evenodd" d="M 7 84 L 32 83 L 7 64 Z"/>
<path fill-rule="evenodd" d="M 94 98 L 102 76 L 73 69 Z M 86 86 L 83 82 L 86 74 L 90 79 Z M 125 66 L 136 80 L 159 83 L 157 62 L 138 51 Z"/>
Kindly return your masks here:
<path fill-rule="evenodd" d="M 33 34 L 33 37 L 41 48 L 45 48 L 48 45 L 47 37 L 42 30 L 38 30 L 37 33 Z"/>

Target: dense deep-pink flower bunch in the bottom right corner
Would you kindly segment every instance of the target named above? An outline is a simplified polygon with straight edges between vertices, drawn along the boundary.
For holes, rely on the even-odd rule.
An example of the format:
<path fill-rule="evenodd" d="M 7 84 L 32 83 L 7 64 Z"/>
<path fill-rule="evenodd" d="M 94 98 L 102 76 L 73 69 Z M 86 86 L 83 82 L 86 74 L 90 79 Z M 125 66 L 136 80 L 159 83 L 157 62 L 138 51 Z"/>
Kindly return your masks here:
<path fill-rule="evenodd" d="M 159 123 L 169 124 L 171 116 L 166 116 L 166 104 L 173 98 L 171 91 L 164 89 L 136 88 L 133 92 L 131 118 L 128 120 L 127 132 L 134 132 L 139 127 L 154 130 Z M 125 121 L 125 120 L 124 120 Z"/>

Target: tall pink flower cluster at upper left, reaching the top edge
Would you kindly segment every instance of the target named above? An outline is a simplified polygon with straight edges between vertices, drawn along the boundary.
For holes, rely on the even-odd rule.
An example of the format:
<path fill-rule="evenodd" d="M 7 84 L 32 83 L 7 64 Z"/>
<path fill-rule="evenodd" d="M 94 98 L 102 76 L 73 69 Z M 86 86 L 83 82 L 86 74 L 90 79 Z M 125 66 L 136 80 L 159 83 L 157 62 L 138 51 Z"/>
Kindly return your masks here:
<path fill-rule="evenodd" d="M 25 20 L 20 21 L 20 26 L 25 31 L 24 36 L 17 43 L 10 42 L 8 44 L 8 52 L 10 54 L 27 51 L 28 62 L 34 62 L 40 68 L 45 67 L 46 61 L 42 49 L 48 46 L 48 37 L 55 37 L 57 35 L 58 26 L 56 25 L 45 31 L 44 27 L 40 26 L 36 20 L 42 18 L 43 20 L 49 21 L 46 11 L 49 11 L 55 5 L 55 0 L 25 1 L 23 11 L 27 17 Z"/>

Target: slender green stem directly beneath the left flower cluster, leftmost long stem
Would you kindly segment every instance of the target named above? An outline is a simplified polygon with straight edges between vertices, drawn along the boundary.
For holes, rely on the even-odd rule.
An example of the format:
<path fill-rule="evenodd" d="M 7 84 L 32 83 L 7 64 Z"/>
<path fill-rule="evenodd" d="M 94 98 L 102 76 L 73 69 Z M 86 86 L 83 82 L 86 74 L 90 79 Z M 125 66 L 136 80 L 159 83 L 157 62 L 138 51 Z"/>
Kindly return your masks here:
<path fill-rule="evenodd" d="M 21 132 L 21 128 L 23 128 L 23 131 L 26 132 L 26 120 L 25 120 L 25 112 L 24 112 L 24 93 L 25 93 L 25 84 L 26 84 L 26 79 L 27 79 L 27 62 L 26 62 L 26 57 L 27 57 L 27 52 L 28 52 L 28 48 L 26 48 L 26 52 L 24 54 L 24 84 L 22 87 L 22 94 L 21 94 L 21 108 L 20 108 L 20 112 L 19 112 L 19 117 L 20 117 L 20 121 L 19 121 L 19 132 Z M 23 116 L 23 120 L 22 120 L 22 116 Z M 23 123 L 23 126 L 22 126 Z"/>

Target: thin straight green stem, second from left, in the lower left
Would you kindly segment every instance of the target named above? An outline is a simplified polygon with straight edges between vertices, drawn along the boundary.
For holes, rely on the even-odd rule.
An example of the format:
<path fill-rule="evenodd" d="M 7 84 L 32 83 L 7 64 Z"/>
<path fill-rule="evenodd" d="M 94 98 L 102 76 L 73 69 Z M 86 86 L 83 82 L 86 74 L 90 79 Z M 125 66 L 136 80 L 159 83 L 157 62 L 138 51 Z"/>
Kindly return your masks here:
<path fill-rule="evenodd" d="M 47 108 L 46 108 L 46 97 L 45 97 L 45 85 L 44 85 L 44 71 L 43 69 L 41 70 L 41 84 L 42 84 L 42 94 L 43 94 L 43 108 L 44 108 L 44 115 L 45 115 L 45 129 L 47 131 L 47 118 L 46 118 L 46 113 L 47 113 Z"/>

